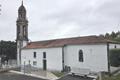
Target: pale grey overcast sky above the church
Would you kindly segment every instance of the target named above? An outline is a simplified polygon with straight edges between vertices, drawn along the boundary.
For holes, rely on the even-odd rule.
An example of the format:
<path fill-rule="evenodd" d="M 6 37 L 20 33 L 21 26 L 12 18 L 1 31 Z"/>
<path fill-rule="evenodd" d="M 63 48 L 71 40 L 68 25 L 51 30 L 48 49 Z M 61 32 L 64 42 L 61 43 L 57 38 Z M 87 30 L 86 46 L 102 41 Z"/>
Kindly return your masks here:
<path fill-rule="evenodd" d="M 0 0 L 0 40 L 16 40 L 22 0 Z M 120 0 L 24 0 L 31 41 L 120 30 Z"/>

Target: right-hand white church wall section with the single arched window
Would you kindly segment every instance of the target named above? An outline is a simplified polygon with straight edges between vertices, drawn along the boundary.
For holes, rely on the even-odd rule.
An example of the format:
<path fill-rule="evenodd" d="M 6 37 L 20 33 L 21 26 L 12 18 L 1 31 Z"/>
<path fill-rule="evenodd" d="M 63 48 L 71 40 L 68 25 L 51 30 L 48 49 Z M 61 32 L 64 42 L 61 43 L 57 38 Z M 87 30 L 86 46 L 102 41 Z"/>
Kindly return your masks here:
<path fill-rule="evenodd" d="M 79 62 L 78 52 L 83 50 L 83 62 Z M 65 47 L 65 65 L 90 71 L 108 71 L 107 45 L 68 45 Z"/>

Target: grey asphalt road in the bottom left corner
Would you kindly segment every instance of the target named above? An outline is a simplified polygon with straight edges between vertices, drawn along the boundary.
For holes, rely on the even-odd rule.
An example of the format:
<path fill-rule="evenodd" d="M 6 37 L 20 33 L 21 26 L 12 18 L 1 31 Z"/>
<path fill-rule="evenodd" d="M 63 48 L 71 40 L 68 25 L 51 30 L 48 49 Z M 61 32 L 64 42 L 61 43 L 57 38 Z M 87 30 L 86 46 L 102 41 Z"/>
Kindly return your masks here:
<path fill-rule="evenodd" d="M 45 80 L 10 72 L 0 73 L 0 80 Z"/>

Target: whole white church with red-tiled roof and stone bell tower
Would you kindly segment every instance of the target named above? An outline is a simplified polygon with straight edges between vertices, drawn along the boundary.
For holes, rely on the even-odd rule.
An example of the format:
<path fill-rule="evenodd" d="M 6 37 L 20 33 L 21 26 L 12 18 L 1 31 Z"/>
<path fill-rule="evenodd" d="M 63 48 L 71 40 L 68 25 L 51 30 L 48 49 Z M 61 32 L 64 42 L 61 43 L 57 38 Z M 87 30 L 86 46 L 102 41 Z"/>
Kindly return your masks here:
<path fill-rule="evenodd" d="M 28 20 L 23 3 L 18 10 L 16 24 L 19 66 L 31 64 L 32 67 L 50 71 L 76 68 L 90 72 L 110 72 L 109 50 L 120 48 L 118 42 L 100 36 L 28 42 Z"/>

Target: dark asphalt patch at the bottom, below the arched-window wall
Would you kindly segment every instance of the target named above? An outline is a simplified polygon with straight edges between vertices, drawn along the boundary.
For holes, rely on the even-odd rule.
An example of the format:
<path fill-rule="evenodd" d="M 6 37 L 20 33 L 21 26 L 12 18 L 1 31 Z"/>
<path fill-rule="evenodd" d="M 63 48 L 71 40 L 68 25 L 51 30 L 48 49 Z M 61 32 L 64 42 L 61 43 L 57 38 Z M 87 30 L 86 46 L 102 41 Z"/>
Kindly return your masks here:
<path fill-rule="evenodd" d="M 67 75 L 64 76 L 58 80 L 93 80 L 92 78 L 88 78 L 88 77 L 80 77 L 80 76 L 72 76 L 72 75 Z"/>

